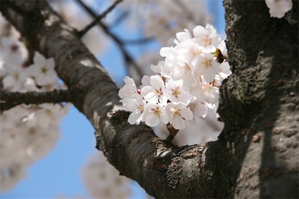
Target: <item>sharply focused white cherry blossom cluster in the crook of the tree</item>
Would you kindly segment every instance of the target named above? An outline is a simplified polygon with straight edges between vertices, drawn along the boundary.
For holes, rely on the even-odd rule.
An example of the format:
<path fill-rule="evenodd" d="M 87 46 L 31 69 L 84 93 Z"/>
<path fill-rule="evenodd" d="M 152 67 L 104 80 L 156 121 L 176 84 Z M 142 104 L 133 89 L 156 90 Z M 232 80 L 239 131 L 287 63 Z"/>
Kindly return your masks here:
<path fill-rule="evenodd" d="M 157 75 L 144 76 L 141 89 L 134 79 L 124 79 L 119 96 L 124 109 L 132 112 L 130 124 L 162 122 L 180 130 L 185 120 L 194 124 L 207 108 L 217 108 L 219 87 L 231 74 L 224 41 L 210 24 L 196 26 L 193 36 L 185 29 L 176 38 L 174 47 L 161 48 L 165 59 L 151 65 Z"/>

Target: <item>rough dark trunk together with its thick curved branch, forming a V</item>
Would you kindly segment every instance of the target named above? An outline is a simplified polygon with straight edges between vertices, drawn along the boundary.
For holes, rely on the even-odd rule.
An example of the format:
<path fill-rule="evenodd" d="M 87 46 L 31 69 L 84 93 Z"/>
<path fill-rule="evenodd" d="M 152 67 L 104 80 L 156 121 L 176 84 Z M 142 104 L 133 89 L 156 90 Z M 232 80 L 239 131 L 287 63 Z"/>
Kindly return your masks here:
<path fill-rule="evenodd" d="M 0 9 L 34 49 L 55 59 L 71 101 L 95 128 L 97 148 L 151 196 L 298 198 L 298 1 L 280 19 L 265 1 L 224 6 L 233 72 L 221 88 L 225 127 L 217 141 L 182 147 L 127 122 L 118 88 L 46 1 L 1 1 Z"/>

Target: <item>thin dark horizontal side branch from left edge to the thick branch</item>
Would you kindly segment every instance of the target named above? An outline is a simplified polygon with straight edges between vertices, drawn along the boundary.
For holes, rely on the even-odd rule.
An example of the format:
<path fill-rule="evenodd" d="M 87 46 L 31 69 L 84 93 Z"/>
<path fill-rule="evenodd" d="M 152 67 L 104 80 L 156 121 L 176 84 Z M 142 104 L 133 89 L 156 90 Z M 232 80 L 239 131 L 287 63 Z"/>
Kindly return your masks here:
<path fill-rule="evenodd" d="M 0 111 L 8 110 L 19 104 L 41 104 L 70 102 L 71 95 L 68 90 L 53 90 L 50 92 L 8 92 L 0 91 Z"/>

